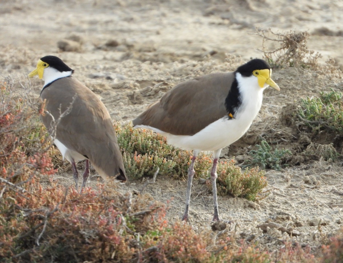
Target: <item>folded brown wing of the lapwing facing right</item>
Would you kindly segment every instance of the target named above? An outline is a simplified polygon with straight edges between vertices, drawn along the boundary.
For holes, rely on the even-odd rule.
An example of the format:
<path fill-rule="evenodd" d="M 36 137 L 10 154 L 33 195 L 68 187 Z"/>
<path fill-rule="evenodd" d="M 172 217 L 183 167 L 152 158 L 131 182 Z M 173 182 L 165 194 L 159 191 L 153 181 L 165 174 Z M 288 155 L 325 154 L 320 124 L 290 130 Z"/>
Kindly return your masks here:
<path fill-rule="evenodd" d="M 213 73 L 180 83 L 135 118 L 133 125 L 147 125 L 175 135 L 194 135 L 227 115 L 225 99 L 234 73 Z"/>

